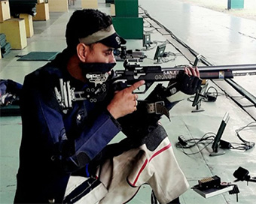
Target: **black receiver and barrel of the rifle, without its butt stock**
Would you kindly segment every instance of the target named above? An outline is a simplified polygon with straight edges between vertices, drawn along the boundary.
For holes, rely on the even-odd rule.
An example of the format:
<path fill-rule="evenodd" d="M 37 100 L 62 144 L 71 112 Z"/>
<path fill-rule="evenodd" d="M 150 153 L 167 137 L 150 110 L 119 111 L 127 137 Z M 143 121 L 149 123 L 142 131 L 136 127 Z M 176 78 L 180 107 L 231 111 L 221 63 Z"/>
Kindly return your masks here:
<path fill-rule="evenodd" d="M 115 77 L 113 83 L 117 83 L 118 86 L 125 88 L 127 86 L 136 83 L 139 80 L 145 80 L 145 93 L 155 82 L 164 82 L 175 80 L 179 74 L 184 73 L 184 66 L 176 66 L 174 68 L 161 68 L 157 66 L 141 66 L 138 63 L 131 64 L 130 62 L 124 62 L 124 70 L 114 71 Z M 198 67 L 200 71 L 200 78 L 202 80 L 213 80 L 213 79 L 229 79 L 233 78 L 233 71 L 247 71 L 238 73 L 236 75 L 256 75 L 256 64 L 255 65 L 218 65 L 218 66 L 205 66 Z M 255 72 L 248 72 L 255 71 Z M 122 89 L 117 88 L 117 89 Z"/>

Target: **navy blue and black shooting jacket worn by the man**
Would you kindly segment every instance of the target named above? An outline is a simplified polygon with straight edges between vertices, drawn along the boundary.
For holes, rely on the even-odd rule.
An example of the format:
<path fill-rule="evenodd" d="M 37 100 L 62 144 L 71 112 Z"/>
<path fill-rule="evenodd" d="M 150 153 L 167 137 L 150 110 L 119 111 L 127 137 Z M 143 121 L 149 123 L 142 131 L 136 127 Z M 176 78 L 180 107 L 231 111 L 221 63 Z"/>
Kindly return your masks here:
<path fill-rule="evenodd" d="M 22 141 L 15 203 L 62 202 L 72 172 L 89 163 L 121 130 L 104 104 L 75 101 L 63 111 L 59 79 L 77 91 L 87 85 L 66 70 L 66 55 L 27 75 L 20 96 Z"/>

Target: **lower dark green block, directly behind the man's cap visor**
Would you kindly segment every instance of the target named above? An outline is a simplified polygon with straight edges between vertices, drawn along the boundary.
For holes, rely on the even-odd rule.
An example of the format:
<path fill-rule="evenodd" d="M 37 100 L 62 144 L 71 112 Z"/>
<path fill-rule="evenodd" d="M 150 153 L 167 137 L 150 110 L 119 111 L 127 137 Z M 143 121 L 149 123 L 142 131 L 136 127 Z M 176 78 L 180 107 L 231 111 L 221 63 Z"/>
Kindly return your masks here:
<path fill-rule="evenodd" d="M 113 25 L 120 36 L 125 39 L 143 38 L 142 18 L 113 18 Z"/>

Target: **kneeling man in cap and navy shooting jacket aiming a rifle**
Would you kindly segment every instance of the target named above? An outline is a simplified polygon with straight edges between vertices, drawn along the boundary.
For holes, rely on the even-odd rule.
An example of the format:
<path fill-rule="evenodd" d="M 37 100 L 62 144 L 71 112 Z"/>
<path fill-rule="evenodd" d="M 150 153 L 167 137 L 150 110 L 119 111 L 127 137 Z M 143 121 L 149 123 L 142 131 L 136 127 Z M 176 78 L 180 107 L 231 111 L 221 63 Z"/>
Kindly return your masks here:
<path fill-rule="evenodd" d="M 143 157 L 151 160 L 151 167 L 157 165 L 153 158 L 168 150 L 162 159 L 169 163 L 168 171 L 173 169 L 181 181 L 180 187 L 169 189 L 175 181 L 173 174 L 170 181 L 159 186 L 166 187 L 163 202 L 178 197 L 187 190 L 187 181 L 163 127 L 157 123 L 160 116 L 153 116 L 143 127 L 132 122 L 132 118 L 137 117 L 133 113 L 138 111 L 139 114 L 139 109 L 144 113 L 145 106 L 138 104 L 138 95 L 133 91 L 145 82 L 139 81 L 118 92 L 111 90 L 109 82 L 115 65 L 113 49 L 126 43 L 114 31 L 111 17 L 99 10 L 76 10 L 66 27 L 66 42 L 67 48 L 53 62 L 27 75 L 23 83 L 20 96 L 23 135 L 14 203 L 72 203 L 81 202 L 83 197 L 87 197 L 86 203 L 126 202 L 136 193 L 132 190 L 122 196 L 120 190 L 125 190 L 126 184 L 139 187 L 152 178 L 152 169 L 144 171 L 140 162 L 145 163 L 145 159 L 138 158 L 142 149 Z M 194 69 L 186 69 L 185 73 L 190 79 L 199 77 Z M 196 90 L 199 83 L 191 84 L 193 87 L 189 89 Z M 158 98 L 163 100 L 163 96 L 150 97 L 151 101 Z M 126 119 L 126 115 L 130 118 Z M 129 131 L 131 127 L 139 130 Z M 108 145 L 121 130 L 127 139 Z M 132 166 L 111 168 L 111 160 L 118 157 L 121 163 L 131 158 L 133 162 L 129 165 Z M 123 175 L 118 178 L 123 183 L 119 191 L 118 186 L 111 183 L 113 173 Z M 163 182 L 163 178 L 158 177 L 158 181 Z M 161 196 L 157 178 L 149 183 L 156 196 Z M 81 196 L 77 187 L 84 187 L 82 191 L 86 193 Z M 94 194 L 88 193 L 88 189 L 94 190 Z M 120 199 L 110 200 L 108 193 L 111 195 L 115 190 L 120 193 Z"/>

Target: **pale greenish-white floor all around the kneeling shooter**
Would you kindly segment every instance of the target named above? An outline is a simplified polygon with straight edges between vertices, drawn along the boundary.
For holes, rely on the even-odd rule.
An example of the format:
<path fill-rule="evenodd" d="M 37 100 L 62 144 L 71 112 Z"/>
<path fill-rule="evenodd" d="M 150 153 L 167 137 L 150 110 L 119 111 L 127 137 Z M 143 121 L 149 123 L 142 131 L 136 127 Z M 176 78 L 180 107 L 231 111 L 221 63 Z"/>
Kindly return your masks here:
<path fill-rule="evenodd" d="M 205 56 L 209 62 L 215 65 L 232 64 L 256 64 L 256 22 L 245 20 L 239 17 L 227 15 L 207 8 L 190 5 L 178 0 L 140 0 L 141 5 L 151 17 L 154 17 L 164 26 L 169 28 L 176 37 L 184 43 Z M 26 55 L 31 51 L 61 51 L 66 47 L 65 28 L 72 11 L 80 7 L 76 1 L 75 7 L 70 7 L 67 13 L 50 13 L 50 20 L 45 22 L 33 22 L 35 35 L 28 39 L 28 46 L 23 50 L 12 50 L 6 58 L 0 60 L 0 74 L 2 79 L 16 80 L 23 83 L 23 77 L 41 67 L 45 62 L 18 62 L 15 55 Z M 157 9 L 155 9 L 157 7 Z M 99 1 L 99 9 L 105 13 L 110 12 L 109 5 L 105 5 L 104 0 Z M 143 15 L 143 13 L 141 13 Z M 160 34 L 154 27 L 148 28 L 148 20 L 145 19 L 145 31 L 151 31 L 151 40 L 163 42 L 166 36 Z M 127 49 L 142 49 L 142 40 L 128 40 Z M 163 67 L 174 67 L 175 65 L 188 64 L 187 58 L 175 49 L 175 46 L 167 44 L 166 51 L 174 52 L 177 57 L 174 61 L 163 63 Z M 155 49 L 145 51 L 148 58 L 143 64 L 153 63 Z M 122 63 L 117 63 L 117 68 L 122 68 Z M 237 77 L 235 79 L 248 89 L 254 96 L 255 80 L 254 76 Z M 209 81 L 210 86 L 215 83 Z M 218 92 L 223 92 L 218 89 Z M 204 148 L 200 153 L 185 155 L 180 149 L 175 147 L 177 138 L 183 135 L 185 138 L 201 138 L 205 133 L 216 133 L 221 123 L 224 113 L 230 113 L 230 121 L 224 131 L 223 139 L 229 142 L 241 142 L 235 130 L 254 121 L 250 115 L 245 113 L 230 98 L 224 95 L 218 96 L 214 103 L 202 103 L 205 110 L 200 113 L 191 113 L 195 108 L 191 102 L 187 101 L 187 95 L 175 97 L 184 98 L 176 105 L 171 114 L 171 122 L 167 118 L 162 118 L 161 122 L 169 133 L 178 163 L 190 186 L 197 184 L 201 178 L 218 175 L 221 181 L 233 182 L 233 172 L 242 166 L 248 169 L 251 176 L 256 176 L 256 150 L 252 148 L 248 151 L 227 150 L 226 154 L 218 157 L 209 157 L 211 148 Z M 145 95 L 140 95 L 145 98 Z M 253 107 L 254 108 L 254 107 Z M 255 108 L 254 108 L 255 109 Z M 11 203 L 14 199 L 16 189 L 16 178 L 18 168 L 18 155 L 21 138 L 20 117 L 1 117 L 0 118 L 0 146 L 1 146 L 1 180 L 0 180 L 0 203 Z M 255 127 L 248 128 L 241 132 L 245 140 L 256 142 Z M 123 137 L 118 135 L 113 142 Z M 197 152 L 203 146 L 187 149 L 187 152 Z M 238 184 L 239 202 L 254 203 L 256 200 L 256 185 L 246 184 L 239 181 Z M 139 193 L 131 200 L 131 204 L 149 204 L 151 189 L 147 185 L 143 186 Z M 181 203 L 236 203 L 236 196 L 223 193 L 209 199 L 204 199 L 194 190 L 187 190 L 181 196 Z"/>

